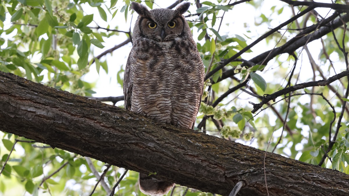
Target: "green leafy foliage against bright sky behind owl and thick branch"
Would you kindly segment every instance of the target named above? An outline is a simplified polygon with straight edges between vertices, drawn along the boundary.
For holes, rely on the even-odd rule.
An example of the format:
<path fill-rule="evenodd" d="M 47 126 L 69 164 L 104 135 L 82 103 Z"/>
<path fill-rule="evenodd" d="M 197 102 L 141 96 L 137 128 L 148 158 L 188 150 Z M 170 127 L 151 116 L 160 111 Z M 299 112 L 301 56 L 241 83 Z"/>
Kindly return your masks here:
<path fill-rule="evenodd" d="M 87 82 L 84 76 L 112 70 L 115 60 L 111 62 L 103 56 L 119 47 L 106 49 L 101 55 L 96 55 L 96 51 L 104 49 L 109 42 L 117 40 L 121 43 L 121 39 L 129 39 L 132 35 L 130 30 L 111 27 L 111 24 L 129 25 L 133 13 L 130 2 L 1 1 L 0 70 L 56 89 L 91 96 L 96 84 Z M 153 0 L 144 3 L 150 9 L 163 6 Z M 248 101 L 259 103 L 260 100 L 239 88 L 234 89 L 241 85 L 253 94 L 265 96 L 288 86 L 327 79 L 340 73 L 348 67 L 349 36 L 347 28 L 343 28 L 345 23 L 342 28 L 333 29 L 307 47 L 296 48 L 293 54 L 279 53 L 270 60 L 252 61 L 260 53 L 271 50 L 269 55 L 273 48 L 284 46 L 307 27 L 319 24 L 321 17 L 335 14 L 330 9 L 326 13 L 317 10 L 321 17 L 304 15 L 272 36 L 263 37 L 257 47 L 229 60 L 268 32 L 268 28 L 274 28 L 304 10 L 286 6 L 283 2 L 275 5 L 261 0 L 232 3 L 227 0 L 203 1 L 198 7 L 193 3 L 190 13 L 187 13 L 191 14 L 187 17 L 188 24 L 197 40 L 206 73 L 227 62 L 205 82 L 195 130 L 262 150 L 267 150 L 271 138 L 268 151 L 314 165 L 320 163 L 323 167 L 349 174 L 349 112 L 345 106 L 348 101 L 345 92 L 347 79 L 327 86 L 313 86 L 305 89 L 305 93 L 297 91 L 281 95 L 257 114 L 251 113 L 253 105 Z M 345 4 L 343 0 L 337 3 Z M 247 13 L 255 13 L 254 18 L 248 19 Z M 114 58 L 122 61 L 122 57 Z M 126 60 L 119 63 L 115 72 L 121 87 L 124 63 Z M 94 65 L 96 69 L 92 70 Z M 339 117 L 341 113 L 343 118 Z M 23 195 L 24 192 L 32 195 L 88 195 L 99 179 L 96 173 L 102 175 L 107 168 L 101 161 L 92 160 L 90 163 L 80 155 L 46 148 L 16 135 L 1 132 L 0 136 L 0 166 L 4 165 L 0 174 L 0 191 L 4 195 Z M 109 193 L 110 190 L 106 189 L 111 189 L 123 173 L 123 168 L 110 167 L 102 179 L 106 187 L 98 184 L 93 195 Z M 156 172 L 149 175 L 156 175 Z M 137 181 L 138 173 L 129 171 L 118 184 L 117 193 L 143 195 Z M 174 189 L 174 195 L 184 193 L 189 196 L 211 195 L 180 186 Z"/>

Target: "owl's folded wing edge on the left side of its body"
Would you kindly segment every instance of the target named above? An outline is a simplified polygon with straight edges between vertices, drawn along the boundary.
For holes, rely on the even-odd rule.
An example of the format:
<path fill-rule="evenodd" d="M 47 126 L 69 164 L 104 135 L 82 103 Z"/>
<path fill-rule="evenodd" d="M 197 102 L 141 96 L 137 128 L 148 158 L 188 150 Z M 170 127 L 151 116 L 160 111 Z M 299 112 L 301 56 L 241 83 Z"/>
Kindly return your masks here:
<path fill-rule="evenodd" d="M 124 73 L 124 100 L 125 100 L 126 110 L 131 110 L 131 98 L 132 98 L 132 86 L 133 86 L 133 74 L 130 74 L 131 66 L 132 66 L 130 62 L 130 56 L 128 56 L 126 67 L 125 67 L 125 73 Z"/>

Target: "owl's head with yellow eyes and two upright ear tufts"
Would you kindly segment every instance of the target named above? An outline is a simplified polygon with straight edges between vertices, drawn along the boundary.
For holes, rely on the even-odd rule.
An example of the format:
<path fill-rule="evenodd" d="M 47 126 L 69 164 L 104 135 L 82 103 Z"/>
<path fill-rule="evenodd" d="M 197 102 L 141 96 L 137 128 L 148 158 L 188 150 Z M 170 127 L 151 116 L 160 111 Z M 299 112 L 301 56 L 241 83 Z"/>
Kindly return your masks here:
<path fill-rule="evenodd" d="M 145 6 L 132 2 L 132 9 L 138 13 L 133 36 L 152 39 L 157 42 L 169 42 L 177 37 L 191 36 L 184 14 L 189 6 L 185 2 L 172 9 L 148 10 Z"/>

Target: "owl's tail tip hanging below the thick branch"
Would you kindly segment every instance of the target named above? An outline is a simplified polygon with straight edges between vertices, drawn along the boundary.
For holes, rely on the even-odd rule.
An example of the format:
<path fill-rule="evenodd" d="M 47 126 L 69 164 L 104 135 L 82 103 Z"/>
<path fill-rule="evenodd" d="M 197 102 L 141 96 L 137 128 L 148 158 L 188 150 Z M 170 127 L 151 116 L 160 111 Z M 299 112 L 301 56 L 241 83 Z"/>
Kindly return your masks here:
<path fill-rule="evenodd" d="M 147 174 L 139 174 L 139 189 L 144 194 L 152 196 L 166 195 L 175 185 L 173 182 L 166 182 L 152 178 Z"/>

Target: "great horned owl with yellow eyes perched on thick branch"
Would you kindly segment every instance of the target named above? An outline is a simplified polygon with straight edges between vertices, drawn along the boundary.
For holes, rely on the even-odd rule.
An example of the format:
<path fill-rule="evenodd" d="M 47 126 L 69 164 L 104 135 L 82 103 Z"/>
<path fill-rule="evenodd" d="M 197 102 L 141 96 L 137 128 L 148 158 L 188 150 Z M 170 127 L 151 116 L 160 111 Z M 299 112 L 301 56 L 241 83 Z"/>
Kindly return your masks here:
<path fill-rule="evenodd" d="M 148 10 L 132 2 L 138 13 L 133 48 L 124 75 L 125 108 L 150 119 L 181 128 L 194 128 L 205 69 L 184 14 L 190 3 L 176 10 Z M 164 195 L 172 182 L 140 174 L 140 190 Z"/>

